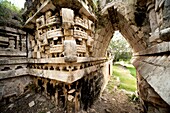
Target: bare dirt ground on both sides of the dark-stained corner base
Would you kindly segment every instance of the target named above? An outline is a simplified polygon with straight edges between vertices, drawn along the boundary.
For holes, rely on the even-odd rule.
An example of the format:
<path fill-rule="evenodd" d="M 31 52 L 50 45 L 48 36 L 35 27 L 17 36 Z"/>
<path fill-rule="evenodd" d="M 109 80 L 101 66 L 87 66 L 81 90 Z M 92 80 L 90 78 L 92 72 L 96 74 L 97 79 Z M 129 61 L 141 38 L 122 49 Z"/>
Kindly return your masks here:
<path fill-rule="evenodd" d="M 32 107 L 29 103 L 34 102 Z M 0 107 L 0 113 L 64 113 L 50 99 L 40 94 L 28 93 L 14 103 Z M 138 102 L 130 102 L 129 97 L 121 91 L 104 92 L 92 108 L 80 113 L 142 113 Z"/>

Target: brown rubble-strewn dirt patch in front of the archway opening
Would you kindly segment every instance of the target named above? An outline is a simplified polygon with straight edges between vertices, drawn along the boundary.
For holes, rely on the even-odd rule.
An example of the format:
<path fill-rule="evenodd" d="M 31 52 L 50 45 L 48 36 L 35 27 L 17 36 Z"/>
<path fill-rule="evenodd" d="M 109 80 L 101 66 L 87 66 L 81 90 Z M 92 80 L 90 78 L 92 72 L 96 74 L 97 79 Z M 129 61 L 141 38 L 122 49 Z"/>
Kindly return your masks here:
<path fill-rule="evenodd" d="M 120 90 L 114 93 L 104 92 L 93 108 L 96 113 L 142 113 L 139 102 L 130 101 L 130 98 Z"/>

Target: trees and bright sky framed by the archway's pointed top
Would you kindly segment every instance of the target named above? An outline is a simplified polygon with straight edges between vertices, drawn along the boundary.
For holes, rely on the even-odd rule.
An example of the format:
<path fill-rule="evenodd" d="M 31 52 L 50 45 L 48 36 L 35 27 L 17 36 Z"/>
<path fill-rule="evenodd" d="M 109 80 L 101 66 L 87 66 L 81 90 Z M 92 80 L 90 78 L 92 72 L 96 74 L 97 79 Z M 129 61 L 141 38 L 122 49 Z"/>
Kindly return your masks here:
<path fill-rule="evenodd" d="M 132 57 L 132 49 L 119 32 L 115 32 L 109 44 L 109 51 L 111 51 L 111 53 L 114 55 L 115 61 L 128 61 Z"/>

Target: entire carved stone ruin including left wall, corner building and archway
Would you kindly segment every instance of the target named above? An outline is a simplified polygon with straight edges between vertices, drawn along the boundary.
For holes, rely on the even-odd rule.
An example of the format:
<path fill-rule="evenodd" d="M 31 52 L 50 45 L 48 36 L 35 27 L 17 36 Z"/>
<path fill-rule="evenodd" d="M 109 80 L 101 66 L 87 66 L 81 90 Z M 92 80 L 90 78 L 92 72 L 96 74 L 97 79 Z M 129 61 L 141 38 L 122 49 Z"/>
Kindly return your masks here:
<path fill-rule="evenodd" d="M 28 88 L 67 112 L 87 109 L 112 74 L 114 31 L 133 49 L 148 113 L 170 111 L 169 0 L 26 0 L 23 29 L 0 27 L 0 100 Z"/>

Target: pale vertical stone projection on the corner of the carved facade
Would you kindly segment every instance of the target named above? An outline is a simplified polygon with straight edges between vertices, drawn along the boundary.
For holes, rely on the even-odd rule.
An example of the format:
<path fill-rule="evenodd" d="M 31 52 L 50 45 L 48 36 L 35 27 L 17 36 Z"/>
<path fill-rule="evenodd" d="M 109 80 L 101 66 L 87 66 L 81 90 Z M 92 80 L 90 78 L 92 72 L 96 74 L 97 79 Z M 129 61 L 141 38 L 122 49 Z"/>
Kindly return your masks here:
<path fill-rule="evenodd" d="M 64 58 L 66 62 L 77 61 L 77 46 L 76 41 L 73 38 L 74 28 L 74 11 L 68 8 L 61 9 L 62 15 L 62 28 L 64 29 Z"/>

